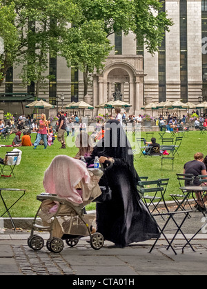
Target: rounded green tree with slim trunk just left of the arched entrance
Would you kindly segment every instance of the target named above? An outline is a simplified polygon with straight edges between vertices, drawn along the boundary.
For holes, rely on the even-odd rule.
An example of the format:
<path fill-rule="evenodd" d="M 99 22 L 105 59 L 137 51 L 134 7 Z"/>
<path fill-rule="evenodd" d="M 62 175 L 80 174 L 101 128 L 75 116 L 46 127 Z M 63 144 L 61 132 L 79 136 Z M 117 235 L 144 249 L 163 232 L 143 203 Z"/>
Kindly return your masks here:
<path fill-rule="evenodd" d="M 112 47 L 103 30 L 102 21 L 85 21 L 80 27 L 73 26 L 67 31 L 61 55 L 68 66 L 75 66 L 83 72 L 84 94 L 88 93 L 88 74 L 103 68 Z"/>

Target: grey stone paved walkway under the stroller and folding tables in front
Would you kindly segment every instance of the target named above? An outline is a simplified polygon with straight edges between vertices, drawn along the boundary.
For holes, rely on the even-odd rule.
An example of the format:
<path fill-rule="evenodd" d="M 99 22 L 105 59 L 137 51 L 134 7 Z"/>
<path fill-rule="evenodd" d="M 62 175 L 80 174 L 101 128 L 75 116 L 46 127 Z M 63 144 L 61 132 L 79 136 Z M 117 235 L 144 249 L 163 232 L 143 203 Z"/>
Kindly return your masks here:
<path fill-rule="evenodd" d="M 192 217 L 186 220 L 184 232 L 188 239 L 202 225 L 202 217 L 201 213 L 193 212 Z M 48 239 L 48 232 L 38 235 L 45 241 Z M 106 241 L 101 250 L 93 250 L 86 242 L 87 237 L 74 248 L 65 244 L 60 254 L 48 251 L 46 246 L 35 252 L 27 245 L 29 236 L 29 232 L 0 234 L 0 275 L 70 275 L 75 282 L 83 275 L 88 279 L 95 279 L 97 275 L 104 278 L 127 277 L 126 281 L 137 275 L 206 275 L 205 230 L 192 241 L 196 252 L 186 248 L 182 254 L 185 241 L 177 235 L 173 244 L 177 255 L 171 249 L 166 250 L 164 239 L 160 239 L 155 250 L 148 253 L 153 240 L 133 243 L 128 248 L 114 248 L 113 243 Z M 170 236 L 172 232 L 168 232 Z"/>

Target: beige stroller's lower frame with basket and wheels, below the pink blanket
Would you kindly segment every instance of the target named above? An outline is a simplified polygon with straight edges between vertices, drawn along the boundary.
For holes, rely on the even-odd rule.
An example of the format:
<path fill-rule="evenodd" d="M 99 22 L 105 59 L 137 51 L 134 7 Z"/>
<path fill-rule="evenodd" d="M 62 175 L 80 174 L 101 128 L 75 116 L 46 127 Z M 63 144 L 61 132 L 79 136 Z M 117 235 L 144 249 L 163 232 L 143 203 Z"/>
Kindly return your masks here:
<path fill-rule="evenodd" d="M 34 235 L 34 230 L 42 230 L 50 232 L 50 237 L 46 243 L 46 247 L 51 252 L 61 252 L 64 247 L 63 239 L 70 247 L 74 247 L 81 237 L 90 236 L 90 246 L 99 250 L 103 247 L 104 238 L 99 232 L 94 234 L 90 231 L 92 221 L 95 215 L 83 214 L 83 204 L 74 206 L 70 201 L 61 199 L 57 195 L 43 193 L 37 196 L 41 201 L 41 206 L 32 222 L 32 230 L 28 238 L 28 246 L 32 250 L 41 250 L 44 246 L 44 240 L 38 235 Z M 57 211 L 50 214 L 41 215 L 43 205 L 58 202 Z M 42 223 L 39 224 L 37 217 L 41 217 Z M 44 218 L 43 218 L 44 217 Z"/>

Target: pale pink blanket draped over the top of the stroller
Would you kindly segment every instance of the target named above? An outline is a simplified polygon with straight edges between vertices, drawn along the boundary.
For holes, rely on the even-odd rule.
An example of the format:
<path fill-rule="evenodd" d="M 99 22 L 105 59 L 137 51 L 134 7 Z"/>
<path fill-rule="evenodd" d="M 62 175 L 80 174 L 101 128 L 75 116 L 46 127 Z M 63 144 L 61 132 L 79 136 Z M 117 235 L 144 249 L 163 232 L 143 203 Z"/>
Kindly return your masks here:
<path fill-rule="evenodd" d="M 81 179 L 84 179 L 86 183 L 90 182 L 86 163 L 66 155 L 59 155 L 52 160 L 52 163 L 47 168 L 43 179 L 43 186 L 46 192 L 66 198 L 78 206 L 80 203 L 83 203 L 83 200 L 75 189 L 75 186 L 77 186 Z"/>

